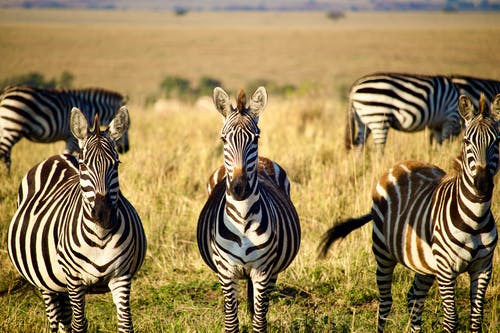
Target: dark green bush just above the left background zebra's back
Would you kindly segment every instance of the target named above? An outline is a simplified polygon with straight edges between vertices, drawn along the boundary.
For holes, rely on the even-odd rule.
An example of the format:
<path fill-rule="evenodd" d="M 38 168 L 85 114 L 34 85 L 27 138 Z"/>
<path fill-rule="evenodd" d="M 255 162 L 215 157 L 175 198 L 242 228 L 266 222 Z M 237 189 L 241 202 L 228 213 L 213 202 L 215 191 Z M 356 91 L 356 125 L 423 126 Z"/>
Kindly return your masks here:
<path fill-rule="evenodd" d="M 2 88 L 13 85 L 27 85 L 37 88 L 71 88 L 75 76 L 67 71 L 61 73 L 59 78 L 45 79 L 44 75 L 38 72 L 16 75 L 3 80 L 0 85 Z"/>

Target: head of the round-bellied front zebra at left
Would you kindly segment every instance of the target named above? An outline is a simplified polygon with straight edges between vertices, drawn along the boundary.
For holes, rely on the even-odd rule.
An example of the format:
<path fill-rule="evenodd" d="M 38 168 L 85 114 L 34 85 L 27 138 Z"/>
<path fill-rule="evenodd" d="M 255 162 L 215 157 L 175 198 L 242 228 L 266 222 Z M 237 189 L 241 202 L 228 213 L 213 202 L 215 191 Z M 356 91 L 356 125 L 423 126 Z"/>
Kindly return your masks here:
<path fill-rule="evenodd" d="M 118 153 L 116 141 L 127 131 L 128 110 L 121 107 L 105 130 L 100 129 L 99 116 L 90 129 L 85 115 L 71 110 L 71 131 L 80 146 L 78 157 L 80 185 L 88 218 L 105 229 L 113 227 L 118 202 Z"/>

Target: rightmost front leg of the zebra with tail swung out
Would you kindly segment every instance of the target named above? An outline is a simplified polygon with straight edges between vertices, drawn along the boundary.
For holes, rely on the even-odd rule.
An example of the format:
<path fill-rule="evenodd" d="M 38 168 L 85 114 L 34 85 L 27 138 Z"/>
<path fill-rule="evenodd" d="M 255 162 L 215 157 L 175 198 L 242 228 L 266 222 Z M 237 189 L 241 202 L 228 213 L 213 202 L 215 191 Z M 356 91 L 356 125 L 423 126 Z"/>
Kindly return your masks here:
<path fill-rule="evenodd" d="M 483 321 L 483 306 L 486 288 L 491 279 L 491 262 L 487 270 L 470 273 L 470 331 L 472 333 L 481 332 Z"/>

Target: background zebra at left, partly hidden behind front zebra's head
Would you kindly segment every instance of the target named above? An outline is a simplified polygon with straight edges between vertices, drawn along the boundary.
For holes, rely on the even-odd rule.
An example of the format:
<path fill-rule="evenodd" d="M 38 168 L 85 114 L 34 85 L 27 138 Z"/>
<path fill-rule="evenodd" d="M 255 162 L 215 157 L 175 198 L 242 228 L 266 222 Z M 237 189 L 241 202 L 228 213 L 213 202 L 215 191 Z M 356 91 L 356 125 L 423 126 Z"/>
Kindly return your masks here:
<path fill-rule="evenodd" d="M 71 108 L 84 110 L 88 120 L 99 111 L 101 122 L 107 125 L 126 102 L 127 97 L 104 89 L 7 87 L 0 96 L 0 159 L 10 172 L 12 147 L 23 137 L 42 143 L 65 140 L 64 153 L 78 152 L 78 143 L 69 128 Z M 118 151 L 128 150 L 128 132 L 125 132 Z"/>

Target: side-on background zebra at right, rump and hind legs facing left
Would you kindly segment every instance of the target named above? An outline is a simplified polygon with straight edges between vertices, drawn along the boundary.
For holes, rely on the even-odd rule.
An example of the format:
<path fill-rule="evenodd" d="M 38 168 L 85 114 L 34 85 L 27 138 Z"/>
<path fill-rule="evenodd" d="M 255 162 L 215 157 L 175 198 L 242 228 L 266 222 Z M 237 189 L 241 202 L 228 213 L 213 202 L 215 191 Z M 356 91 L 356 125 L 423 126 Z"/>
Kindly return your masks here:
<path fill-rule="evenodd" d="M 369 134 L 383 150 L 389 128 L 417 132 L 429 128 L 441 144 L 460 133 L 458 91 L 451 79 L 376 73 L 358 79 L 349 93 L 345 146 L 365 144 Z M 356 135 L 357 127 L 357 135 Z"/>

